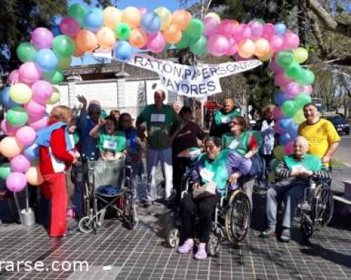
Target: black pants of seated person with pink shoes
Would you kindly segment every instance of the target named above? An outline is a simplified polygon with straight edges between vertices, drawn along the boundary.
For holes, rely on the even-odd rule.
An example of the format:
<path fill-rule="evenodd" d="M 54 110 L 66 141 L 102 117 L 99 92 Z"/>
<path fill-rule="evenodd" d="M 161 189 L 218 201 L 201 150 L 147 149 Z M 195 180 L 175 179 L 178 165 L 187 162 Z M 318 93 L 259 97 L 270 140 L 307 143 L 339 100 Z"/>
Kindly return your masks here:
<path fill-rule="evenodd" d="M 180 202 L 180 218 L 182 219 L 182 239 L 194 237 L 194 221 L 199 215 L 199 239 L 206 243 L 210 236 L 211 221 L 216 204 L 220 201 L 220 195 L 192 199 L 192 194 L 185 195 Z"/>

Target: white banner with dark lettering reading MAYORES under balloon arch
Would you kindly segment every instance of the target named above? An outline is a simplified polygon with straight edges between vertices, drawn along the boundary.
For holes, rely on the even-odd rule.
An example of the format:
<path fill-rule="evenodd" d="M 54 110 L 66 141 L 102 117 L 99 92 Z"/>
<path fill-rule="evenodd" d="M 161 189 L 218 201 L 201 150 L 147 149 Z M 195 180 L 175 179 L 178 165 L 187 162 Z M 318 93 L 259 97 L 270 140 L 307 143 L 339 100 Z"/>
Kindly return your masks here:
<path fill-rule="evenodd" d="M 95 52 L 93 55 L 114 59 L 112 55 L 107 53 Z M 258 59 L 251 59 L 188 66 L 142 53 L 134 54 L 126 63 L 159 73 L 161 83 L 168 91 L 187 97 L 204 97 L 222 92 L 220 78 L 248 71 L 262 64 Z"/>

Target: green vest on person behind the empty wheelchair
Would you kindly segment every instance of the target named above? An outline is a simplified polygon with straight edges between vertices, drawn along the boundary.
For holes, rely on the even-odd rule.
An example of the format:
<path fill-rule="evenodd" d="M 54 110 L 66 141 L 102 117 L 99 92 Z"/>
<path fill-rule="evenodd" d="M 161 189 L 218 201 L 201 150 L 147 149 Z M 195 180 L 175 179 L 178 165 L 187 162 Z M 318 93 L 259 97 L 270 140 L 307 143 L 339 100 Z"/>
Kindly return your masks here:
<path fill-rule="evenodd" d="M 113 135 L 103 132 L 98 139 L 98 148 L 104 152 L 119 153 L 124 151 L 126 149 L 126 134 L 121 131 L 114 132 Z"/>

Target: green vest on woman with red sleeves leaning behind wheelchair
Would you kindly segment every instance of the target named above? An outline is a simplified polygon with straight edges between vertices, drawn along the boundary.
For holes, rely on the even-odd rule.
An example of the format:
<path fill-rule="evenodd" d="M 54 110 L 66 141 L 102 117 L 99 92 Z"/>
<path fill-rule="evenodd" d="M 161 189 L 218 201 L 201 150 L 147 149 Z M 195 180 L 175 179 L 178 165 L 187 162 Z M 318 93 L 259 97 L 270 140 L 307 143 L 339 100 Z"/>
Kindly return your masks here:
<path fill-rule="evenodd" d="M 232 132 L 227 132 L 223 134 L 222 148 L 229 148 L 231 150 L 236 151 L 240 155 L 245 155 L 247 152 L 249 152 L 249 143 L 252 135 L 253 137 L 255 137 L 256 143 L 258 144 L 258 148 L 260 148 L 260 145 L 262 144 L 262 135 L 259 131 L 256 130 L 245 130 L 244 132 L 241 132 L 241 134 L 239 134 L 239 136 L 235 139 L 237 143 L 233 143 L 234 136 Z M 232 147 L 230 147 L 231 144 Z"/>

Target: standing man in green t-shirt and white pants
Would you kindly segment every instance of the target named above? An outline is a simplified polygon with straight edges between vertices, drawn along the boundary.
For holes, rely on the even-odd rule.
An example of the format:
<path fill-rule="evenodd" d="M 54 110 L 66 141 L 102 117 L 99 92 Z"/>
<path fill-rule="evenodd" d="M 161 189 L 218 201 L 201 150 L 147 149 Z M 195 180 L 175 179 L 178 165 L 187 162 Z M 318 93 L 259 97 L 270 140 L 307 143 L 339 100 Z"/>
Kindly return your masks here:
<path fill-rule="evenodd" d="M 172 142 L 180 130 L 180 118 L 171 106 L 164 105 L 166 99 L 165 90 L 162 87 L 154 92 L 154 104 L 148 105 L 136 119 L 136 127 L 140 135 L 140 125 L 146 123 L 147 128 L 147 201 L 153 202 L 157 198 L 156 193 L 156 169 L 159 161 L 164 170 L 166 181 L 165 199 L 171 195 L 173 188 L 172 176 Z M 176 130 L 170 134 L 171 125 Z M 145 140 L 145 139 L 143 139 Z"/>

